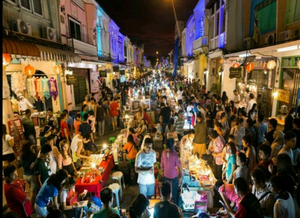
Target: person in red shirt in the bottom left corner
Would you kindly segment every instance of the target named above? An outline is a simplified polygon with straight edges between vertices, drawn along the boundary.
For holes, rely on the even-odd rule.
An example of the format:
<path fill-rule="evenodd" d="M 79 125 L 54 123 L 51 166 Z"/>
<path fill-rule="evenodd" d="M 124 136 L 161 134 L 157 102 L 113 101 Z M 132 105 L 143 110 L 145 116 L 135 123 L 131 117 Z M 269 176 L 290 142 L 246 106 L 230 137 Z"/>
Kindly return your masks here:
<path fill-rule="evenodd" d="M 24 191 L 22 182 L 18 180 L 17 168 L 8 165 L 3 169 L 4 195 L 9 209 L 18 214 L 20 218 L 30 217 L 32 207 L 30 198 Z"/>

